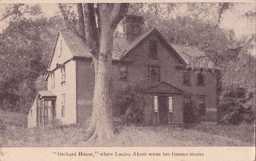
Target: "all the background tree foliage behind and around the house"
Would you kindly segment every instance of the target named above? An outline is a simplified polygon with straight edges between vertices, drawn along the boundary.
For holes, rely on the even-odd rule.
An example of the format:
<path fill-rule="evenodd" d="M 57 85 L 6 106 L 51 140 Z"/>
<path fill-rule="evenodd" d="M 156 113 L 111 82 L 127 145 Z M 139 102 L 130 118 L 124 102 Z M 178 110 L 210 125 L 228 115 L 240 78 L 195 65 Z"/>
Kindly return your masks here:
<path fill-rule="evenodd" d="M 224 123 L 237 123 L 232 121 L 234 118 L 254 120 L 255 32 L 238 39 L 233 30 L 221 27 L 223 15 L 243 5 L 132 3 L 129 8 L 129 14 L 144 17 L 144 32 L 156 27 L 170 43 L 196 46 L 220 67 L 219 99 Z M 63 7 L 80 31 L 76 5 Z M 26 113 L 36 92 L 46 89 L 45 71 L 57 33 L 66 30 L 66 25 L 60 13 L 49 16 L 45 6 L 39 4 L 7 4 L 2 8 L 0 23 L 7 25 L 0 27 L 0 109 Z M 255 15 L 253 8 L 237 16 L 255 22 Z M 122 22 L 115 36 L 122 36 L 121 26 Z M 235 91 L 244 91 L 244 97 L 232 95 Z"/>

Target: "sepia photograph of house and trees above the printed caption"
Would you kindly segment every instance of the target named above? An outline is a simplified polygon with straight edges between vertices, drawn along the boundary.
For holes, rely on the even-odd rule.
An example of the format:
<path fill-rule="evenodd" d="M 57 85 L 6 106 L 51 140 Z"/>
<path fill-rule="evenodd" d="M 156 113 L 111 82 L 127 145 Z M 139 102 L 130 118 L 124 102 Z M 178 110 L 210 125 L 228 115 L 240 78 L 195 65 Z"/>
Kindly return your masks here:
<path fill-rule="evenodd" d="M 255 47 L 252 1 L 0 3 L 0 148 L 255 147 Z"/>

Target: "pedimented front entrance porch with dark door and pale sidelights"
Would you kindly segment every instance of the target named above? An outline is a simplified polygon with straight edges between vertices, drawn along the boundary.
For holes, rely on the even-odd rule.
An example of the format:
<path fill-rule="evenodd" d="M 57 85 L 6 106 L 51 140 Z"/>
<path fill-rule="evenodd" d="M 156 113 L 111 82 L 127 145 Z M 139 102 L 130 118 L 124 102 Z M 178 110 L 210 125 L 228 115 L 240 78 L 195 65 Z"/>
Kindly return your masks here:
<path fill-rule="evenodd" d="M 146 119 L 158 125 L 182 124 L 182 90 L 162 81 L 146 88 L 145 93 L 149 102 L 146 110 L 152 111 Z"/>

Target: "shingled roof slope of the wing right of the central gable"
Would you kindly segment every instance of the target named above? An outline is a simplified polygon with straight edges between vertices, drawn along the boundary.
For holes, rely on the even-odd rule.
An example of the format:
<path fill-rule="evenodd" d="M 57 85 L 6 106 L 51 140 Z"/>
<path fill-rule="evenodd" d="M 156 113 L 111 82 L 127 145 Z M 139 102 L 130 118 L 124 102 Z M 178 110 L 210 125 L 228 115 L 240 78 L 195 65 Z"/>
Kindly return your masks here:
<path fill-rule="evenodd" d="M 216 68 L 214 63 L 196 46 L 170 44 L 189 67 Z"/>

